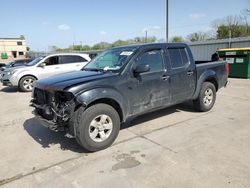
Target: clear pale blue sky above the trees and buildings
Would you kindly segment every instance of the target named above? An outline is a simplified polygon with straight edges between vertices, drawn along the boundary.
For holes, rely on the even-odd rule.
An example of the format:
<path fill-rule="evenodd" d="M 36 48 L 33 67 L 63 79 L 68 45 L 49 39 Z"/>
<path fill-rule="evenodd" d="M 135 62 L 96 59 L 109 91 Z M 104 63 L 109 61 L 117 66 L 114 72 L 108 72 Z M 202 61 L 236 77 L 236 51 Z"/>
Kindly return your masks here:
<path fill-rule="evenodd" d="M 165 38 L 166 0 L 2 0 L 0 38 L 24 35 L 31 50 L 118 39 Z M 250 0 L 169 0 L 169 37 L 210 31 Z"/>

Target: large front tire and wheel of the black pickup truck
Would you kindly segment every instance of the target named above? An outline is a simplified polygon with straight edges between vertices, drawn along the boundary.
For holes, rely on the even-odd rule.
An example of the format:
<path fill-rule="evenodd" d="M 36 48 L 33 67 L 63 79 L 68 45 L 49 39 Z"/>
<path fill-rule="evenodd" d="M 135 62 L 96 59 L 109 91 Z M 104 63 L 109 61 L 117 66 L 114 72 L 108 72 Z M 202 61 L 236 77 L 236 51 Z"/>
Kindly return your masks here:
<path fill-rule="evenodd" d="M 75 124 L 77 142 L 87 151 L 103 150 L 115 141 L 120 131 L 120 117 L 107 104 L 81 107 Z"/>

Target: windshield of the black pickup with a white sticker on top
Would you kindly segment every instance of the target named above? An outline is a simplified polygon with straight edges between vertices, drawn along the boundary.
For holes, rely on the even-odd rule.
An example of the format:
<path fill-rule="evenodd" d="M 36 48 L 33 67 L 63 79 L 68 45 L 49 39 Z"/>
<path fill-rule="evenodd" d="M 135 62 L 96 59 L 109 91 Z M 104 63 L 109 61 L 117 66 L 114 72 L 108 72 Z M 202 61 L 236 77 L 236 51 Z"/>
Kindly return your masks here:
<path fill-rule="evenodd" d="M 136 49 L 137 47 L 121 47 L 107 50 L 93 59 L 83 70 L 119 71 Z"/>

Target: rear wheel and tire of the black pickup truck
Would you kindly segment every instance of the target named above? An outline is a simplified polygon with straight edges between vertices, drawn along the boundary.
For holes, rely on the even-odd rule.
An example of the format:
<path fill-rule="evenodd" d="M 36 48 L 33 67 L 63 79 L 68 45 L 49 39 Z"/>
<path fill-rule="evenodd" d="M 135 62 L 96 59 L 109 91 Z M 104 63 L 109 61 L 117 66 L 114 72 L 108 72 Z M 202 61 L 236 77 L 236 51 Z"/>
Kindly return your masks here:
<path fill-rule="evenodd" d="M 214 106 L 216 100 L 216 89 L 211 82 L 204 82 L 201 86 L 199 97 L 193 101 L 197 111 L 207 112 Z"/>

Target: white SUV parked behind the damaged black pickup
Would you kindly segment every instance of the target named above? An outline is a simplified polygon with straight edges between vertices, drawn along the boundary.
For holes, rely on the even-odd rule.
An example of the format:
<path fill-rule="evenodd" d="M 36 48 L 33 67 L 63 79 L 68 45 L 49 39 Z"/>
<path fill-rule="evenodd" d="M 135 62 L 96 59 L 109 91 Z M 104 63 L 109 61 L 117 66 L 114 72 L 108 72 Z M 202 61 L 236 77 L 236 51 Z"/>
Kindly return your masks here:
<path fill-rule="evenodd" d="M 32 91 L 36 80 L 79 71 L 90 60 L 88 54 L 67 53 L 41 56 L 25 66 L 6 69 L 1 73 L 1 82 L 5 86 L 18 86 L 21 91 L 28 92 Z"/>

